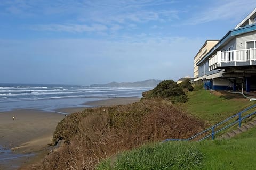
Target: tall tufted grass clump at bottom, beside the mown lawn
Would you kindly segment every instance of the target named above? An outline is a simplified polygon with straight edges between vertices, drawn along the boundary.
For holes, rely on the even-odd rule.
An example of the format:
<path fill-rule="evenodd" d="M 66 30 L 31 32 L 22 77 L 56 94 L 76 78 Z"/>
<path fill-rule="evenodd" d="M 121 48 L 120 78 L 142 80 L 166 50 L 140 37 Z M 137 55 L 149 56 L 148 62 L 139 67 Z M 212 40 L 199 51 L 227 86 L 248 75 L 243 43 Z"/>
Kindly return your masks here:
<path fill-rule="evenodd" d="M 101 162 L 97 170 L 106 169 L 194 169 L 202 164 L 203 154 L 190 143 L 166 142 L 142 146 Z"/>

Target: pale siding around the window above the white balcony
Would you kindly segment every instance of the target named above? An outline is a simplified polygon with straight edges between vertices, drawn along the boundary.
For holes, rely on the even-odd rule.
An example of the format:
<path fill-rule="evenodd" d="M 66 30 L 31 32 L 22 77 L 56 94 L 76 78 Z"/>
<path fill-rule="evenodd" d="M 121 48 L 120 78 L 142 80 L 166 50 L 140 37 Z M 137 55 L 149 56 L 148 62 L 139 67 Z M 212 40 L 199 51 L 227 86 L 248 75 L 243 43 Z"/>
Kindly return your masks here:
<path fill-rule="evenodd" d="M 246 49 L 246 41 L 256 41 L 256 31 L 238 35 L 236 49 Z"/>

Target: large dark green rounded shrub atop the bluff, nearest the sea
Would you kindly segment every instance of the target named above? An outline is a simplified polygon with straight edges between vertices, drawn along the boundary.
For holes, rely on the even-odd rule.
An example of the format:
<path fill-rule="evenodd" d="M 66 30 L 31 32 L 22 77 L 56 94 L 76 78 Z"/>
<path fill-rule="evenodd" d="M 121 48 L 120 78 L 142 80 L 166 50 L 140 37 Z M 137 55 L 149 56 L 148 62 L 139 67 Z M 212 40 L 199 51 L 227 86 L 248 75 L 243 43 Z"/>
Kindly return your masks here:
<path fill-rule="evenodd" d="M 147 98 L 162 98 L 171 101 L 172 103 L 185 103 L 188 97 L 182 88 L 173 80 L 164 80 L 157 85 L 153 90 L 144 92 L 142 99 Z"/>

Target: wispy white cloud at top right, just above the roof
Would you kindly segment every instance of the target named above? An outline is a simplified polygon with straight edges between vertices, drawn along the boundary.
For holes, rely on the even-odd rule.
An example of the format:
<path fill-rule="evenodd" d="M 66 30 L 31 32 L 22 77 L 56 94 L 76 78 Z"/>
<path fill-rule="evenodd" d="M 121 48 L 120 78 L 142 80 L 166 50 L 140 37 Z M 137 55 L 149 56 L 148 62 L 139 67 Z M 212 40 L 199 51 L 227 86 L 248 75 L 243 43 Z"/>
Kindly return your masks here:
<path fill-rule="evenodd" d="M 238 22 L 241 17 L 248 13 L 248 11 L 255 8 L 254 0 L 240 1 L 216 1 L 211 7 L 201 8 L 199 12 L 194 13 L 194 17 L 186 20 L 185 24 L 197 25 L 205 22 L 215 20 L 232 19 Z"/>

